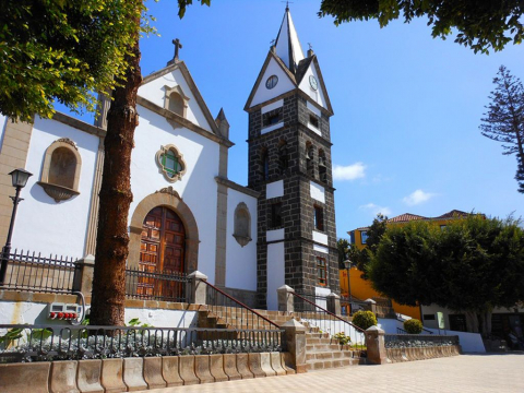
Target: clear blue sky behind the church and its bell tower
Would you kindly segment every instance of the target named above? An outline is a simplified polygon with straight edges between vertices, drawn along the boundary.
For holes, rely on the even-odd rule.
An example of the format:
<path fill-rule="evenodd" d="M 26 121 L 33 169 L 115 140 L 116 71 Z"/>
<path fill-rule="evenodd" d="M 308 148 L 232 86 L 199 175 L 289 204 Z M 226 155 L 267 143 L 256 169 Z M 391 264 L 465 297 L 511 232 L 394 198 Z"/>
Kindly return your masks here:
<path fill-rule="evenodd" d="M 142 73 L 172 58 L 186 62 L 213 116 L 230 124 L 229 179 L 247 184 L 248 114 L 243 106 L 276 38 L 285 2 L 195 2 L 179 20 L 176 1 L 147 1 L 159 36 L 141 40 Z M 489 56 L 431 37 L 425 20 L 380 28 L 377 21 L 335 26 L 320 0 L 289 3 L 298 37 L 318 56 L 331 118 L 337 237 L 377 213 L 439 216 L 451 210 L 505 218 L 524 214 L 516 157 L 479 126 L 501 64 L 524 80 L 524 47 Z"/>

